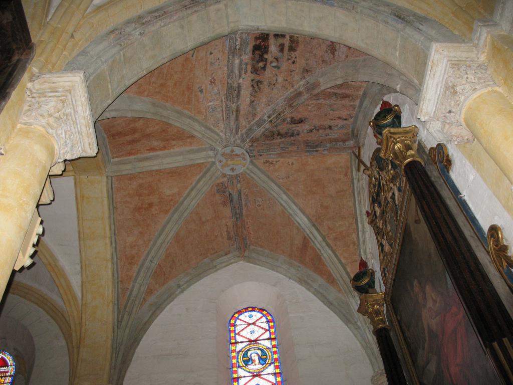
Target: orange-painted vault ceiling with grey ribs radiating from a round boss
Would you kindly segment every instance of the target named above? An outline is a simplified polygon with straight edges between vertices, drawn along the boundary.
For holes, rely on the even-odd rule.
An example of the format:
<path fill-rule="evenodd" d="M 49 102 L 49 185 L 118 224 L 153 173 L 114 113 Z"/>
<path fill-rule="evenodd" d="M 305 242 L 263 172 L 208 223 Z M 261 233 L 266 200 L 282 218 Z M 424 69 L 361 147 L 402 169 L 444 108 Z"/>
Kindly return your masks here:
<path fill-rule="evenodd" d="M 329 264 L 340 258 L 352 272 L 358 261 L 350 151 L 365 83 L 319 79 L 366 58 L 317 38 L 239 32 L 146 74 L 105 111 L 96 128 L 112 177 L 120 307 L 206 258 L 252 248 L 341 291 L 346 277 Z M 226 146 L 249 154 L 241 174 L 215 166 Z"/>

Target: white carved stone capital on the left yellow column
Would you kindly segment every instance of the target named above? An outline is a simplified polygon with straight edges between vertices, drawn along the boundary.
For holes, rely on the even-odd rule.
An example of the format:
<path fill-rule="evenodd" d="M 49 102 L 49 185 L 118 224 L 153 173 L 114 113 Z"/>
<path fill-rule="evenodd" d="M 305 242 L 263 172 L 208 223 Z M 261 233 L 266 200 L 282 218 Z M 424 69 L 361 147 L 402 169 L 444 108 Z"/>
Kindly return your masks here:
<path fill-rule="evenodd" d="M 55 140 L 54 164 L 98 151 L 82 71 L 43 73 L 27 86 L 19 123 L 43 127 Z"/>

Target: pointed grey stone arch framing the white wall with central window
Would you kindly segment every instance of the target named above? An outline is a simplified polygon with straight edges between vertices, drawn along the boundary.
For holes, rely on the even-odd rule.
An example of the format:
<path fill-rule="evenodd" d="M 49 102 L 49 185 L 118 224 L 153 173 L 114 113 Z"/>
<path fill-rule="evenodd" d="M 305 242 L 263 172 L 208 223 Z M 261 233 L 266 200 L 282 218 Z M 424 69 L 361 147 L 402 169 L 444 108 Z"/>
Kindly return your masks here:
<path fill-rule="evenodd" d="M 321 277 L 309 271 L 306 267 L 267 250 L 250 247 L 244 257 L 238 253 L 221 253 L 203 260 L 198 266 L 168 282 L 159 292 L 154 294 L 137 313 L 130 333 L 121 341 L 120 354 L 115 358 L 111 372 L 111 382 L 116 385 L 123 383 L 125 374 L 130 366 L 135 350 L 149 330 L 155 319 L 179 295 L 184 293 L 196 282 L 220 271 L 221 269 L 238 262 L 247 262 L 261 266 L 278 273 L 289 280 L 304 287 L 314 297 L 319 299 L 331 312 L 333 312 L 351 331 L 362 345 L 374 371 L 380 370 L 382 363 L 376 343 L 368 329 L 367 323 L 361 323 L 359 315 L 347 298 L 337 292 Z M 365 326 L 362 326 L 365 325 Z"/>

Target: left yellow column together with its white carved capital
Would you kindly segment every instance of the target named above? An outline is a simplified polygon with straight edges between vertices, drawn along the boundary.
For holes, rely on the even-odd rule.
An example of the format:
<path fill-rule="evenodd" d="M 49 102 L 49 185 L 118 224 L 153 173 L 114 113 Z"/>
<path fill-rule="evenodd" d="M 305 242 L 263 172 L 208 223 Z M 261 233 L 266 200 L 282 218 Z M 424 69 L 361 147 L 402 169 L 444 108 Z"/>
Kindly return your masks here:
<path fill-rule="evenodd" d="M 83 72 L 37 75 L 25 92 L 18 125 L 0 156 L 2 295 L 22 244 L 27 249 L 25 235 L 50 168 L 98 150 Z"/>

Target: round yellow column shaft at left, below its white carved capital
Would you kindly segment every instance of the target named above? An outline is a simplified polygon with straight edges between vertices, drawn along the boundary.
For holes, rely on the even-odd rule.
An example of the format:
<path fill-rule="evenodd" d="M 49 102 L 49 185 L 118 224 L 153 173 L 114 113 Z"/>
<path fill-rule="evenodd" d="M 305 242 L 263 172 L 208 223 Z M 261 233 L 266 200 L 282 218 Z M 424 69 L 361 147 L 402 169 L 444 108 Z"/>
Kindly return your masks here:
<path fill-rule="evenodd" d="M 2 295 L 55 156 L 55 141 L 42 127 L 20 125 L 0 157 Z"/>

